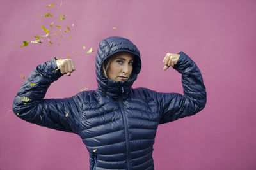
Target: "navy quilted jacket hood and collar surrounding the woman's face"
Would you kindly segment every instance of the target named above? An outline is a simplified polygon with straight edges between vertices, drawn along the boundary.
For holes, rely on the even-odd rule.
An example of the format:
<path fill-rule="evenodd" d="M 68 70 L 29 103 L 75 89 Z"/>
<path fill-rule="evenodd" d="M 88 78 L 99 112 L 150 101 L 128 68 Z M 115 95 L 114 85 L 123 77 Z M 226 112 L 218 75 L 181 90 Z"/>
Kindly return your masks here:
<path fill-rule="evenodd" d="M 101 69 L 104 60 L 117 52 L 129 52 L 134 55 L 134 65 L 131 78 L 127 81 L 113 81 L 104 77 L 102 74 Z M 111 36 L 100 41 L 95 66 L 98 90 L 100 90 L 100 92 L 103 92 L 105 96 L 109 97 L 118 97 L 120 95 L 127 96 L 133 82 L 137 79 L 141 70 L 140 52 L 136 45 L 134 45 L 129 39 L 119 36 Z"/>

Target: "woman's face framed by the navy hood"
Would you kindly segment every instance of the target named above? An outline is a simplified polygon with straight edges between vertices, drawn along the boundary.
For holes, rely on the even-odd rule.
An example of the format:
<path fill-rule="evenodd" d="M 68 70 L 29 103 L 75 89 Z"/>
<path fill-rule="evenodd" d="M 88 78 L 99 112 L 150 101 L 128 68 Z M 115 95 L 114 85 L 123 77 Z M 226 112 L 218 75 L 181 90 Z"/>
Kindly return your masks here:
<path fill-rule="evenodd" d="M 127 81 L 132 73 L 133 57 L 130 53 L 120 53 L 113 57 L 107 70 L 108 78 L 113 81 Z"/>

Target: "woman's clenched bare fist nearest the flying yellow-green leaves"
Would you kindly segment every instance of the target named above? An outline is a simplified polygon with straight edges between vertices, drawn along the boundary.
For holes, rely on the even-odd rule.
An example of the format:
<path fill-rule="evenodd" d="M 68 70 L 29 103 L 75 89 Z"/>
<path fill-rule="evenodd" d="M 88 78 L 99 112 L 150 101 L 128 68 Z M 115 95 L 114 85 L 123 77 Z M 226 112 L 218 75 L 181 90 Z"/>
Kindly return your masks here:
<path fill-rule="evenodd" d="M 67 76 L 70 76 L 71 73 L 75 70 L 71 59 L 58 59 L 56 60 L 56 64 L 58 69 L 60 69 L 60 73 L 67 74 Z"/>

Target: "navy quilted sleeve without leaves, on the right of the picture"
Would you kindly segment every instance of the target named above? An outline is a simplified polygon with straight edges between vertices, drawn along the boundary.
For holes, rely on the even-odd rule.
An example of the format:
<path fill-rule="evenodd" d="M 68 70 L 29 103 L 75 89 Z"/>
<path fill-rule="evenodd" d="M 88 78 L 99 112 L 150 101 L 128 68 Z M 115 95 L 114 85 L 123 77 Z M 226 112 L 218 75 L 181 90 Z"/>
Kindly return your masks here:
<path fill-rule="evenodd" d="M 179 54 L 179 60 L 173 68 L 182 74 L 184 95 L 178 93 L 157 94 L 161 113 L 159 124 L 195 115 L 206 104 L 206 90 L 200 70 L 186 53 L 181 51 Z"/>

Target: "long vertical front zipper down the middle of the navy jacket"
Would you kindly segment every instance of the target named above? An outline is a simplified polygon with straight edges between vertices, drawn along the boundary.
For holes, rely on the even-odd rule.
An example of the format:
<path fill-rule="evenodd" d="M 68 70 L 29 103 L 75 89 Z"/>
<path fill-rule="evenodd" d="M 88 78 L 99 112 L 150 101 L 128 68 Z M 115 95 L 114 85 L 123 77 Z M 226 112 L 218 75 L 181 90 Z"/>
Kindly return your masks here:
<path fill-rule="evenodd" d="M 127 119 L 125 117 L 125 114 L 124 114 L 124 108 L 123 108 L 123 104 L 122 104 L 122 96 L 119 97 L 119 100 L 118 100 L 118 103 L 119 103 L 119 106 L 121 108 L 121 113 L 122 113 L 122 117 L 123 117 L 123 120 L 124 120 L 124 131 L 125 131 L 125 141 L 126 141 L 126 152 L 127 152 L 127 169 L 131 169 L 131 164 L 130 164 L 130 145 L 129 145 L 129 136 L 128 136 L 128 127 L 127 127 Z"/>

